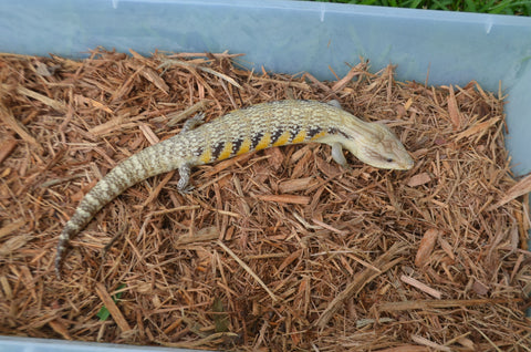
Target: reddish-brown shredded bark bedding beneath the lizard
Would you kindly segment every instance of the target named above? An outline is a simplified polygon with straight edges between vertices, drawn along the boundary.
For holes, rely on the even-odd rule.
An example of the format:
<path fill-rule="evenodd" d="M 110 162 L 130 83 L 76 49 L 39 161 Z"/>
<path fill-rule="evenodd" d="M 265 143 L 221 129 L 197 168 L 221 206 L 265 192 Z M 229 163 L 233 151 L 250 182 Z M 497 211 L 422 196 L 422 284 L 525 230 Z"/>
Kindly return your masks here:
<path fill-rule="evenodd" d="M 530 178 L 503 146 L 501 92 L 250 72 L 239 55 L 0 54 L 0 333 L 190 349 L 528 351 Z M 324 145 L 271 148 L 126 190 L 59 234 L 119 161 L 283 99 L 384 121 L 415 158 L 382 170 Z M 287 116 L 289 118 L 289 116 Z M 112 246 L 106 246 L 112 242 Z M 107 317 L 105 317 L 107 315 Z"/>

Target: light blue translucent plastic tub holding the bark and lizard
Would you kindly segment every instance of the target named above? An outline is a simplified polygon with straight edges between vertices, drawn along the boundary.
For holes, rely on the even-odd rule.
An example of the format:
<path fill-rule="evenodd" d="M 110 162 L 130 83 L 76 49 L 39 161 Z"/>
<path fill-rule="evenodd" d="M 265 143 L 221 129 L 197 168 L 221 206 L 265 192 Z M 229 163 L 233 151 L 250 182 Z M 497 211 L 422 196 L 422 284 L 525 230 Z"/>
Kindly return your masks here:
<path fill-rule="evenodd" d="M 397 64 L 398 80 L 508 94 L 507 146 L 517 175 L 531 172 L 531 18 L 299 1 L 33 0 L 0 3 L 0 51 L 82 58 L 103 45 L 246 53 L 254 68 L 333 80 L 345 62 Z M 9 341 L 9 345 L 7 344 Z M 3 338 L 2 351 L 111 351 Z M 150 351 L 144 348 L 140 351 Z"/>

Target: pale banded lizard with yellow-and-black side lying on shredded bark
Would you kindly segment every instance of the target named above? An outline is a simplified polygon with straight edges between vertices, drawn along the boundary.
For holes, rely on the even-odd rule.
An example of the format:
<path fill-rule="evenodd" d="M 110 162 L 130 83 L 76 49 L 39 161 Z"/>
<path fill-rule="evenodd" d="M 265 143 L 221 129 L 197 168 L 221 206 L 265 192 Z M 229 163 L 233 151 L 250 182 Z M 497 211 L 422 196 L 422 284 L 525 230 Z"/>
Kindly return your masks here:
<path fill-rule="evenodd" d="M 336 101 L 275 101 L 236 110 L 208 123 L 202 123 L 204 118 L 202 113 L 196 114 L 180 133 L 129 156 L 83 197 L 59 237 L 58 278 L 71 238 L 106 204 L 150 176 L 177 169 L 180 177 L 177 189 L 185 194 L 192 189 L 191 167 L 268 147 L 312 142 L 331 145 L 332 158 L 344 167 L 347 162 L 343 148 L 377 168 L 406 170 L 414 165 L 386 125 L 364 122 L 344 111 Z"/>

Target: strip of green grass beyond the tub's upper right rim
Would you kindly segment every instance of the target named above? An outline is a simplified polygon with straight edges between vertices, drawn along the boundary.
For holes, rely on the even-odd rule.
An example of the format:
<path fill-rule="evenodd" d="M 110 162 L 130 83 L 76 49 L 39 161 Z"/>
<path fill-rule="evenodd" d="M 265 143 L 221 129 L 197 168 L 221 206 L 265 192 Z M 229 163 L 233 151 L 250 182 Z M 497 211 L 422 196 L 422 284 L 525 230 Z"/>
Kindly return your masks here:
<path fill-rule="evenodd" d="M 381 7 L 462 11 L 494 14 L 531 14 L 531 0 L 314 0 Z"/>

